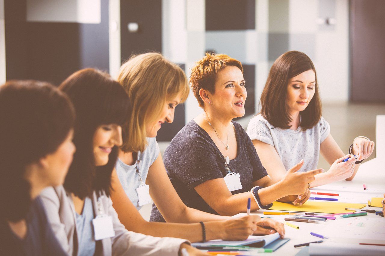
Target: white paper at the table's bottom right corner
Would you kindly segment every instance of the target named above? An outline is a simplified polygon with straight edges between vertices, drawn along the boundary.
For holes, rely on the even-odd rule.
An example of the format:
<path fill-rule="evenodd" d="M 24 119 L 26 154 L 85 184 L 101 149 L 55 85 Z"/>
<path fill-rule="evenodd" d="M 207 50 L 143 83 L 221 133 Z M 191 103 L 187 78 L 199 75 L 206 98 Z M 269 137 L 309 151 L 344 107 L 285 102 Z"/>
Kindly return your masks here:
<path fill-rule="evenodd" d="M 383 256 L 385 255 L 385 246 L 363 245 L 363 244 L 342 244 L 342 243 L 321 243 L 309 244 L 310 256 Z"/>

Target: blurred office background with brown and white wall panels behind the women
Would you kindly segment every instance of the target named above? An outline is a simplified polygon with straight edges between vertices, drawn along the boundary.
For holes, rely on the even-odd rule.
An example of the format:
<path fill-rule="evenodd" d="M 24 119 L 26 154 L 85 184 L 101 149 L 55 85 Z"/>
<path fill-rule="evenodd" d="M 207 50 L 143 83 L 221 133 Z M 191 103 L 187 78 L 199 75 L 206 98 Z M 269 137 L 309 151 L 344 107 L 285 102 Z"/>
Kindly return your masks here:
<path fill-rule="evenodd" d="M 289 50 L 314 62 L 323 116 L 344 151 L 358 135 L 375 140 L 385 114 L 383 0 L 0 0 L 0 82 L 58 85 L 95 67 L 117 74 L 134 53 L 157 51 L 189 77 L 205 52 L 244 65 L 246 128 L 274 60 Z M 161 150 L 201 109 L 191 94 L 164 125 Z M 373 153 L 372 157 L 375 157 Z M 321 159 L 319 166 L 328 168 Z"/>

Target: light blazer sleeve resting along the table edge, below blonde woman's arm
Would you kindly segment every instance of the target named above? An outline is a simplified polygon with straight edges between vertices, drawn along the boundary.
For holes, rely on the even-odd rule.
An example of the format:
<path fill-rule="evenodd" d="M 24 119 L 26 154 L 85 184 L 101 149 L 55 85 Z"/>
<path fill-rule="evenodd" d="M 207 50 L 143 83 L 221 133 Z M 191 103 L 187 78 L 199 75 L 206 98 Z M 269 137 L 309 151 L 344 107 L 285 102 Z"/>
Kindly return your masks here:
<path fill-rule="evenodd" d="M 182 243 L 190 242 L 180 238 L 159 238 L 128 231 L 119 221 L 112 201 L 109 200 L 108 215 L 112 216 L 115 236 L 111 238 L 112 255 L 178 255 Z"/>

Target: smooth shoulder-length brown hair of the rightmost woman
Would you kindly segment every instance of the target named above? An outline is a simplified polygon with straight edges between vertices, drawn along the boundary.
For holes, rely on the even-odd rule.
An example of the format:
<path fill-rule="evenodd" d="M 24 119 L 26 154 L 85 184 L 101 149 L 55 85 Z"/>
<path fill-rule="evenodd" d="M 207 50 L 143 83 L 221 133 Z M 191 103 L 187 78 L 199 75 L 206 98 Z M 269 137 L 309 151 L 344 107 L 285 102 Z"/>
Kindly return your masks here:
<path fill-rule="evenodd" d="M 321 119 L 322 105 L 318 90 L 317 73 L 313 62 L 303 52 L 286 52 L 275 60 L 261 94 L 261 115 L 273 126 L 290 128 L 291 117 L 286 105 L 287 85 L 290 78 L 302 72 L 313 70 L 315 73 L 315 92 L 305 110 L 300 112 L 303 130 L 312 128 Z"/>

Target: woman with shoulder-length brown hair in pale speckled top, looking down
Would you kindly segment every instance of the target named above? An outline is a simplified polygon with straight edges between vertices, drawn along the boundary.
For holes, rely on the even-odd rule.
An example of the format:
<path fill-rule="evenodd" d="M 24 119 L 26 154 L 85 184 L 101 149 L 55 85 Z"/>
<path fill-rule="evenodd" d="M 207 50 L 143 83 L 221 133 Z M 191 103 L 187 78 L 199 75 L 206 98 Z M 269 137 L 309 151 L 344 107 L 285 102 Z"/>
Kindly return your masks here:
<path fill-rule="evenodd" d="M 299 172 L 315 169 L 320 153 L 331 166 L 310 187 L 352 180 L 359 163 L 373 152 L 374 142 L 358 136 L 344 155 L 322 117 L 318 86 L 313 62 L 303 52 L 286 52 L 271 66 L 261 95 L 261 113 L 250 120 L 247 133 L 275 181 L 301 159 L 305 164 Z"/>

